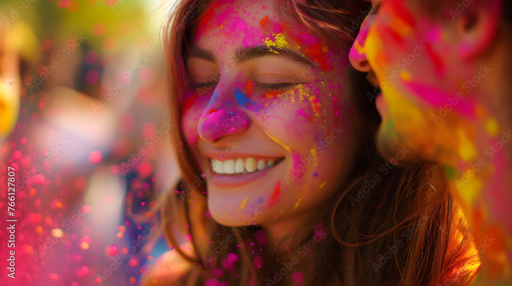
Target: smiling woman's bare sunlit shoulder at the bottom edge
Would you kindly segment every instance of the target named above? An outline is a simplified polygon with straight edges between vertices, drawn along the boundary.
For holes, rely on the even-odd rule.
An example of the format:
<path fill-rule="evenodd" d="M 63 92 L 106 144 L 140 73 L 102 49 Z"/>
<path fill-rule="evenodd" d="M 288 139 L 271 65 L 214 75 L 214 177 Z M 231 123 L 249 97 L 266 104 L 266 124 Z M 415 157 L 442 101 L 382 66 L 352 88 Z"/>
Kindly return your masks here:
<path fill-rule="evenodd" d="M 180 245 L 189 249 L 190 243 Z M 185 251 L 186 253 L 186 251 Z M 184 285 L 193 265 L 175 250 L 164 252 L 142 273 L 143 286 Z"/>

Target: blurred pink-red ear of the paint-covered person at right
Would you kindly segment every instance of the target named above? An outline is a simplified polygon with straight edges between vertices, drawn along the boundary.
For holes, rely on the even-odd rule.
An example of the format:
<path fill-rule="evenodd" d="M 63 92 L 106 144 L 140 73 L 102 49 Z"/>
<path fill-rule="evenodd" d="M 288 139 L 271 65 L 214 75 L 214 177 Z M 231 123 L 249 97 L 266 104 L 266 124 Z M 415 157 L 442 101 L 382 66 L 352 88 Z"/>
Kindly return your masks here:
<path fill-rule="evenodd" d="M 462 60 L 473 59 L 492 44 L 501 21 L 503 0 L 473 0 L 467 7 L 457 3 L 455 21 L 457 54 Z M 510 1 L 510 0 L 505 0 Z M 485 2 L 485 3 L 483 3 Z M 465 4 L 466 1 L 463 1 Z M 450 12 L 452 13 L 453 10 Z"/>

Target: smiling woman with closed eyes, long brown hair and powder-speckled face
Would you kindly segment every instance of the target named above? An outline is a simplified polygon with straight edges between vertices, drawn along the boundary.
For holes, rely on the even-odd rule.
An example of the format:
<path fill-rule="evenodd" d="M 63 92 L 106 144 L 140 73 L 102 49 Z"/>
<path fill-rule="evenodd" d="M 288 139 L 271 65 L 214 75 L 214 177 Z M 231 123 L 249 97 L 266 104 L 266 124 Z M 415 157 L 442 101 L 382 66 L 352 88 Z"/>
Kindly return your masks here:
<path fill-rule="evenodd" d="M 145 283 L 472 277 L 476 253 L 439 166 L 376 153 L 380 117 L 348 62 L 358 31 L 345 29 L 368 3 L 199 4 L 178 1 L 164 34 L 183 182 L 162 209 L 174 249 Z"/>

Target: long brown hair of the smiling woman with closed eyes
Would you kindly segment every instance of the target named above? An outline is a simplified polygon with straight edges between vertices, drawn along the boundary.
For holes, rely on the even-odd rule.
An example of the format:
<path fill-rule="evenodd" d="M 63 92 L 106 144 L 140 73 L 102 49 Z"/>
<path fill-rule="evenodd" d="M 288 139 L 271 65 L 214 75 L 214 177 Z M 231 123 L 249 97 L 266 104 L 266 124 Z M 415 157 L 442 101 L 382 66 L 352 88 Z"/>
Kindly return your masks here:
<path fill-rule="evenodd" d="M 351 46 L 361 19 L 369 12 L 368 6 L 368 2 L 362 0 L 278 0 L 276 3 L 282 17 L 302 22 L 312 33 L 343 49 Z M 314 216 L 304 222 L 303 229 L 297 230 L 308 233 L 299 245 L 314 237 L 318 225 L 327 230 L 323 242 L 309 252 L 307 262 L 298 263 L 284 271 L 286 274 L 281 279 L 274 279 L 279 278 L 286 261 L 279 259 L 281 249 L 268 249 L 264 243 L 258 244 L 255 236 L 264 235 L 262 227 L 247 226 L 234 235 L 230 227 L 207 216 L 198 219 L 197 214 L 191 213 L 207 213 L 207 189 L 204 175 L 201 177 L 198 162 L 179 128 L 185 89 L 183 57 L 193 23 L 208 7 L 210 4 L 204 0 L 178 1 L 170 7 L 163 33 L 169 105 L 177 127 L 173 138 L 183 180 L 177 192 L 167 194 L 162 221 L 170 244 L 195 266 L 195 272 L 190 273 L 188 279 L 185 277 L 188 283 L 203 285 L 207 279 L 215 277 L 230 285 L 437 286 L 462 285 L 471 278 L 479 266 L 478 256 L 459 206 L 447 190 L 442 168 L 431 164 L 401 167 L 379 156 L 375 134 L 380 117 L 372 97 L 367 96 L 374 88 L 367 83 L 364 74 L 355 70 L 351 72 L 351 104 L 363 127 L 358 137 L 357 159 L 347 183 L 334 197 L 311 210 Z M 194 255 L 177 248 L 176 228 L 188 230 L 186 234 Z M 220 257 L 210 261 L 208 267 L 203 258 L 208 257 L 210 251 L 215 252 L 217 244 L 210 246 L 204 239 L 201 241 L 205 243 L 197 243 L 198 233 L 203 231 L 210 235 L 207 241 L 229 242 L 229 236 L 236 239 L 227 246 L 229 251 L 219 253 Z M 253 262 L 256 257 L 263 258 L 259 267 Z M 238 260 L 236 267 L 224 272 L 214 271 L 226 259 Z M 297 282 L 301 279 L 295 280 L 294 273 L 300 273 L 297 275 L 302 275 L 303 282 Z"/>

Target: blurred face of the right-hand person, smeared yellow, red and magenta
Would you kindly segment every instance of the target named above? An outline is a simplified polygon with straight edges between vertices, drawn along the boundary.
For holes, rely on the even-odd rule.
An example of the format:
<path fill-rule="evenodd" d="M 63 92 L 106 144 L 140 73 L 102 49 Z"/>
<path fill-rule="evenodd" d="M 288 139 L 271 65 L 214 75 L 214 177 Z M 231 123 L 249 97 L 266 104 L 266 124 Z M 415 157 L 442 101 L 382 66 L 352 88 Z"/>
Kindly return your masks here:
<path fill-rule="evenodd" d="M 369 71 L 369 80 L 382 91 L 382 97 L 373 94 L 382 116 L 380 151 L 392 156 L 397 146 L 405 146 L 408 161 L 468 157 L 473 147 L 465 134 L 472 127 L 465 122 L 482 109 L 472 94 L 473 79 L 482 80 L 489 69 L 464 60 L 475 44 L 463 41 L 460 14 L 446 16 L 452 15 L 450 6 L 443 5 L 438 13 L 444 18 L 437 18 L 419 0 L 371 2 L 374 9 L 350 60 L 356 69 Z"/>

